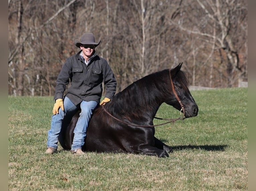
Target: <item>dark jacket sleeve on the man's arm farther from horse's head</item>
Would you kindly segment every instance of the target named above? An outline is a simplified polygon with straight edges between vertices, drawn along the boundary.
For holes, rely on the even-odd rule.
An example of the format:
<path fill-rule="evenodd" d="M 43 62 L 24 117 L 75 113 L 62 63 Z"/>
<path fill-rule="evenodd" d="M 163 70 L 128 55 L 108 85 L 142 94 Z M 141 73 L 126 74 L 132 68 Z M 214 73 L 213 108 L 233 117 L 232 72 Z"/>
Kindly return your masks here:
<path fill-rule="evenodd" d="M 70 78 L 72 78 L 72 62 L 71 59 L 67 59 L 56 81 L 54 100 L 58 98 L 63 99 L 64 91 L 66 90 L 66 85 L 69 84 Z"/>

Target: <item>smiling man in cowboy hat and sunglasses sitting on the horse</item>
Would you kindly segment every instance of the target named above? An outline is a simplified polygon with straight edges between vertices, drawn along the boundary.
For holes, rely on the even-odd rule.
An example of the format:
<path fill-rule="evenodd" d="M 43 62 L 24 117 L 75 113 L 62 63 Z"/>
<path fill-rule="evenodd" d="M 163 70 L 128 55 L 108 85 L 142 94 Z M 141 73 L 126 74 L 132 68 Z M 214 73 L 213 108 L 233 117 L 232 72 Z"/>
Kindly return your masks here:
<path fill-rule="evenodd" d="M 102 96 L 102 82 L 106 87 L 104 100 L 100 105 L 110 101 L 116 92 L 114 74 L 104 58 L 99 57 L 95 48 L 100 44 L 95 42 L 92 33 L 84 33 L 81 41 L 75 40 L 76 47 L 81 50 L 69 57 L 58 75 L 55 88 L 55 104 L 51 118 L 51 128 L 48 131 L 47 150 L 52 154 L 57 150 L 58 135 L 65 115 L 73 116 L 81 108 L 80 117 L 74 129 L 74 140 L 71 151 L 84 154 L 86 130 L 94 109 Z M 71 87 L 64 95 L 66 85 L 71 81 Z"/>

